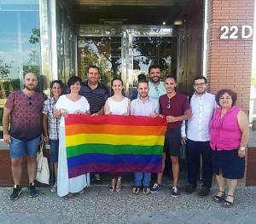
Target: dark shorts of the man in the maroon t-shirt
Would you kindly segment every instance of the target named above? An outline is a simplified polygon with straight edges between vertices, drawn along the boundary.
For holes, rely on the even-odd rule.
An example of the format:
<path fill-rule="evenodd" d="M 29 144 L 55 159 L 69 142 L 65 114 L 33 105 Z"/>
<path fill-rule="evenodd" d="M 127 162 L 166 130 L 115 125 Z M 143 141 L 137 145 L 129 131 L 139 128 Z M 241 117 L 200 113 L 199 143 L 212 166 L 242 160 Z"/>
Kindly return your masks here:
<path fill-rule="evenodd" d="M 169 152 L 171 157 L 178 157 L 180 141 L 180 128 L 167 129 L 165 136 L 164 152 Z"/>

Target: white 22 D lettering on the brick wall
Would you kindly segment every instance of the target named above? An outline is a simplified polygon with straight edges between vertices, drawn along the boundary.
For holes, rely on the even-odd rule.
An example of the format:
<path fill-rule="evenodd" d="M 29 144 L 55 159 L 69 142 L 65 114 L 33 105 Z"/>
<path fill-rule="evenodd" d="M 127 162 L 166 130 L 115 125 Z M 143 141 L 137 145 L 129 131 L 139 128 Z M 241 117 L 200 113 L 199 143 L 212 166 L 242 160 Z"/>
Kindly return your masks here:
<path fill-rule="evenodd" d="M 247 39 L 253 36 L 252 26 L 221 26 L 220 27 L 220 39 Z M 241 36 L 238 36 L 238 32 L 241 31 Z"/>

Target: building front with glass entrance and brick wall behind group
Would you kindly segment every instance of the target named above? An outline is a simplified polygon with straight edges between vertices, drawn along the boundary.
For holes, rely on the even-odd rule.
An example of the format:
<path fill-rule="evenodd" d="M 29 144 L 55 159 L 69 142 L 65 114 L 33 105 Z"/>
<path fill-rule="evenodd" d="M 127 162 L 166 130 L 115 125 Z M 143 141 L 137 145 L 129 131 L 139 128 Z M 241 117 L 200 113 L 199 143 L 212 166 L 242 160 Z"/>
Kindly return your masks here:
<path fill-rule="evenodd" d="M 152 64 L 163 68 L 163 76 L 175 75 L 177 90 L 188 95 L 193 78 L 203 74 L 212 94 L 235 90 L 237 106 L 250 117 L 246 183 L 256 185 L 253 19 L 254 0 L 2 0 L 0 126 L 6 98 L 23 88 L 26 72 L 38 75 L 38 90 L 46 95 L 51 80 L 85 79 L 92 64 L 108 88 L 113 77 L 123 78 L 127 95 Z M 10 167 L 8 158 L 1 141 L 3 168 Z M 10 170 L 0 180 L 9 184 Z"/>

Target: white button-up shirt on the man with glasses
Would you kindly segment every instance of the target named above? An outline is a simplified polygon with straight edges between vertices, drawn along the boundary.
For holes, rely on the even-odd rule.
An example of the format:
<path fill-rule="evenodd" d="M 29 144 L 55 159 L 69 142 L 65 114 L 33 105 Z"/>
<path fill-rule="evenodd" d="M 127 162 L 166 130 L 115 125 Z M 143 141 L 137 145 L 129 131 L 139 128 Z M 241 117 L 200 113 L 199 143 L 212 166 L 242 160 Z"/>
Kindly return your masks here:
<path fill-rule="evenodd" d="M 187 137 L 192 141 L 210 141 L 210 122 L 213 112 L 218 107 L 215 95 L 192 95 L 190 106 L 192 118 L 187 122 Z"/>

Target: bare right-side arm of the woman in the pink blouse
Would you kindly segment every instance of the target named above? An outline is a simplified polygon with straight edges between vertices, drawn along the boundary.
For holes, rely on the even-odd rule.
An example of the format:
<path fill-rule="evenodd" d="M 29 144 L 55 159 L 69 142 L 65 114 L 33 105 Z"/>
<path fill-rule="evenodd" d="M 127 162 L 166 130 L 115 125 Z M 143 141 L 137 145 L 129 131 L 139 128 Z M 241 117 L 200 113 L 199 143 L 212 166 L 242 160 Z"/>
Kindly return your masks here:
<path fill-rule="evenodd" d="M 237 115 L 237 121 L 241 130 L 240 146 L 246 147 L 249 141 L 249 121 L 245 112 L 239 112 Z M 246 152 L 238 150 L 239 157 L 245 157 Z"/>

